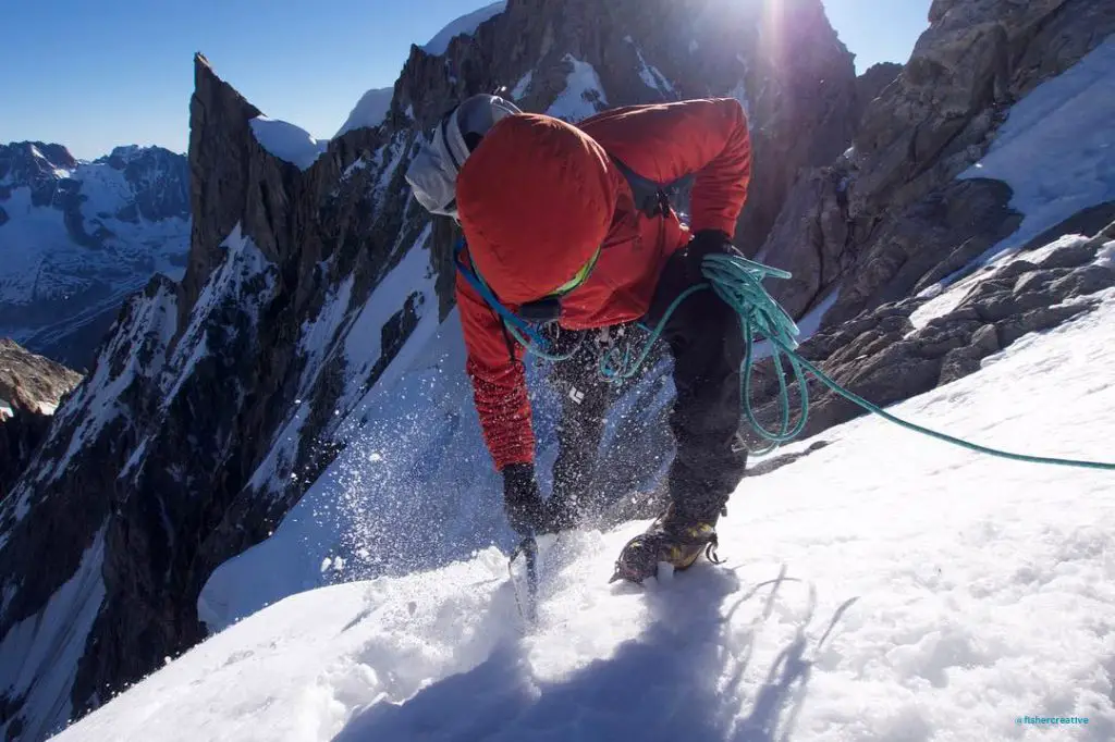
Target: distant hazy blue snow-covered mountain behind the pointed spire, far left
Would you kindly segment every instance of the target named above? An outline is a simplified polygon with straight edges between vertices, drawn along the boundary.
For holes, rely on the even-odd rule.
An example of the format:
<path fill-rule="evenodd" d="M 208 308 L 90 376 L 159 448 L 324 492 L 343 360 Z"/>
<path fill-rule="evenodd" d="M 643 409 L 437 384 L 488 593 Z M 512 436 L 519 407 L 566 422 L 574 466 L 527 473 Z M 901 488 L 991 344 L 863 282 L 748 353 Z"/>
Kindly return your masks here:
<path fill-rule="evenodd" d="M 125 297 L 181 279 L 190 240 L 183 155 L 117 147 L 81 162 L 60 145 L 0 145 L 0 336 L 85 368 Z"/>

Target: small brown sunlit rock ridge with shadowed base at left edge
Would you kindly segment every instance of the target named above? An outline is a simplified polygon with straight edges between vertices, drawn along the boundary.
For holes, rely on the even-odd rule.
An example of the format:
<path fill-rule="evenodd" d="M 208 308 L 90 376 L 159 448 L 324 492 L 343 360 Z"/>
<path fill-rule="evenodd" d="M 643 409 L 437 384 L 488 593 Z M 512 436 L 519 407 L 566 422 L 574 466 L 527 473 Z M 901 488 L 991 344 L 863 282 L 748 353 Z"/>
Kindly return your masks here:
<path fill-rule="evenodd" d="M 46 438 L 55 408 L 80 380 L 74 371 L 0 340 L 0 500 Z"/>

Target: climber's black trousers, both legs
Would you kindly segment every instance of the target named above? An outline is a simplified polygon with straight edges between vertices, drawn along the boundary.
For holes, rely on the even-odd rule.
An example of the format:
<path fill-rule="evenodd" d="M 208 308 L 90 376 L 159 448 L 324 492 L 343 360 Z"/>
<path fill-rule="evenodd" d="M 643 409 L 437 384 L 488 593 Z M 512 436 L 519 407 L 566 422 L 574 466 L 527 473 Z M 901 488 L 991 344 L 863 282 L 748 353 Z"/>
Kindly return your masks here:
<path fill-rule="evenodd" d="M 670 303 L 689 287 L 691 279 L 680 261 L 676 255 L 662 271 L 643 319 L 647 326 L 657 326 Z M 725 506 L 747 463 L 747 452 L 737 437 L 739 365 L 744 359 L 739 316 L 711 291 L 701 291 L 675 310 L 662 340 L 673 355 L 677 389 L 670 412 L 677 449 L 669 472 L 670 498 L 681 515 L 708 521 Z M 597 455 L 617 391 L 598 372 L 602 352 L 599 333 L 559 332 L 559 352 L 576 344 L 578 352 L 556 363 L 552 377 L 562 394 L 553 496 L 566 498 L 573 511 L 583 511 L 594 504 Z"/>

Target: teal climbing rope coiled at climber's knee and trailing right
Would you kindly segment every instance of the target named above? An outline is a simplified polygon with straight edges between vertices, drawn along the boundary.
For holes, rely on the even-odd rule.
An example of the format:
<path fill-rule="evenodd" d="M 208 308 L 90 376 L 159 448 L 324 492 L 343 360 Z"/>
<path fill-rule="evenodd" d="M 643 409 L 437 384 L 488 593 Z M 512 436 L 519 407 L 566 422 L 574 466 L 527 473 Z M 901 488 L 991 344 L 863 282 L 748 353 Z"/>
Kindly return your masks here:
<path fill-rule="evenodd" d="M 973 443 L 956 436 L 949 436 L 891 414 L 878 404 L 873 404 L 859 394 L 845 389 L 797 352 L 797 335 L 799 334 L 797 325 L 763 286 L 763 281 L 767 277 L 788 279 L 791 277 L 789 273 L 747 260 L 740 255 L 727 254 L 705 257 L 701 263 L 701 272 L 708 280 L 708 283 L 691 286 L 673 300 L 667 307 L 662 319 L 650 330 L 649 339 L 633 361 L 631 359 L 632 351 L 630 345 L 623 349 L 612 348 L 601 355 L 600 373 L 604 379 L 619 383 L 636 375 L 647 361 L 652 346 L 661 338 L 662 331 L 681 302 L 700 291 L 711 290 L 739 314 L 740 329 L 744 335 L 744 362 L 740 367 L 743 371 L 740 406 L 748 424 L 768 441 L 768 446 L 753 451 L 753 453 L 767 453 L 779 445 L 793 440 L 805 429 L 809 416 L 807 374 L 812 374 L 833 392 L 857 404 L 867 412 L 878 414 L 884 420 L 913 432 L 960 446 L 971 451 L 1031 463 L 1115 470 L 1115 463 L 1104 461 L 1030 456 L 980 446 L 979 443 Z M 515 334 L 516 340 L 530 352 L 551 361 L 562 360 L 560 357 L 551 355 L 532 345 L 518 332 L 515 332 L 514 329 L 512 329 L 512 332 Z M 770 346 L 770 358 L 778 379 L 778 423 L 773 429 L 759 422 L 752 406 L 752 380 L 756 364 L 755 343 L 759 339 L 765 340 Z M 786 373 L 787 367 L 789 374 Z M 787 383 L 787 377 L 791 377 L 793 382 L 798 387 L 796 416 L 792 409 L 791 384 Z M 796 422 L 794 421 L 795 418 Z"/>

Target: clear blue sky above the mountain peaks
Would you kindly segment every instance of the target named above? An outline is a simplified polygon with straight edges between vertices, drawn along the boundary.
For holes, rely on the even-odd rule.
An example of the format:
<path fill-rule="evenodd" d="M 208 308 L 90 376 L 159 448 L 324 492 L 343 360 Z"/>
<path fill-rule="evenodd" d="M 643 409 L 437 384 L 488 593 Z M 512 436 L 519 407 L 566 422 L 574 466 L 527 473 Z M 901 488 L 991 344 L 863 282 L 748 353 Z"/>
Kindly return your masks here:
<path fill-rule="evenodd" d="M 273 118 L 332 136 L 365 90 L 487 0 L 11 0 L 3 10 L 0 143 L 93 158 L 120 144 L 184 152 L 193 53 Z M 754 0 L 726 0 L 749 2 Z M 825 0 L 862 71 L 905 61 L 930 0 Z"/>

